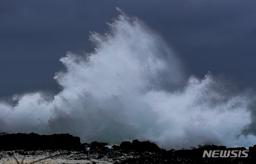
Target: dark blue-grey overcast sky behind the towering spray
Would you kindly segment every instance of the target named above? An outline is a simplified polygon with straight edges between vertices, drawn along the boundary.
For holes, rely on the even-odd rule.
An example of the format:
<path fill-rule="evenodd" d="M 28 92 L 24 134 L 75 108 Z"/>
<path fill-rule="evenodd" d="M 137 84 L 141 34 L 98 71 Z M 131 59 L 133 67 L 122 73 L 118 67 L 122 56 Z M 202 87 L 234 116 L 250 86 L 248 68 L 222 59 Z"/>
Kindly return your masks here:
<path fill-rule="evenodd" d="M 0 97 L 58 92 L 59 58 L 92 51 L 89 31 L 104 32 L 116 7 L 158 31 L 187 77 L 210 71 L 256 87 L 255 0 L 0 0 Z"/>

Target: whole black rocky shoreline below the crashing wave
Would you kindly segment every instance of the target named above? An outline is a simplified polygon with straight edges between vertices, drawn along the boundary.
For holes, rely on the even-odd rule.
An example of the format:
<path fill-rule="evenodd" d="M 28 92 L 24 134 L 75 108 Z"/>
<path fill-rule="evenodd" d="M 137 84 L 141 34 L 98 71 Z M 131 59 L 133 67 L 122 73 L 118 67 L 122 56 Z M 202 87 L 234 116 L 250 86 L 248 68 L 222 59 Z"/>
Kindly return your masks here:
<path fill-rule="evenodd" d="M 204 145 L 192 149 L 165 150 L 149 141 L 124 141 L 119 146 L 108 143 L 81 143 L 79 137 L 69 134 L 38 135 L 1 134 L 0 164 L 55 163 L 55 164 L 193 164 L 226 163 L 250 164 L 256 162 L 256 145 L 249 147 L 248 157 L 204 157 L 204 151 L 245 151 L 246 148 Z M 16 159 L 17 160 L 16 160 Z M 44 160 L 41 160 L 44 159 Z M 39 161 L 40 160 L 40 161 Z"/>

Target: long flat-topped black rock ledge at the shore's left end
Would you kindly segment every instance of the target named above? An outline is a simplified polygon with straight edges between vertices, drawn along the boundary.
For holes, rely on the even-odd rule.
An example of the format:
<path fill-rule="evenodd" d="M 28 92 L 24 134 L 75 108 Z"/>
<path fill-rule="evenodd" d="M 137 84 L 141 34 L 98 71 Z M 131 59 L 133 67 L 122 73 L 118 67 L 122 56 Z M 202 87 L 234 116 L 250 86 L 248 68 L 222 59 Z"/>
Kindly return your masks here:
<path fill-rule="evenodd" d="M 70 134 L 39 135 L 30 134 L 2 134 L 0 135 L 0 150 L 36 150 L 36 149 L 79 149 L 79 137 Z"/>

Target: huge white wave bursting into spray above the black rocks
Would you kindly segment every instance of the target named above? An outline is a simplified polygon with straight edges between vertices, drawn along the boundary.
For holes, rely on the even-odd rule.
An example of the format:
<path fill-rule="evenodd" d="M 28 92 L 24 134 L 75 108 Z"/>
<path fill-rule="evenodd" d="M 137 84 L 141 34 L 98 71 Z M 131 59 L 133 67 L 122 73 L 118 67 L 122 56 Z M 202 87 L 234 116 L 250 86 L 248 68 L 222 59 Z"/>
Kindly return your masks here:
<path fill-rule="evenodd" d="M 256 137 L 243 133 L 253 121 L 250 90 L 237 91 L 208 72 L 185 79 L 182 61 L 161 35 L 119 11 L 105 34 L 91 33 L 94 52 L 60 59 L 66 71 L 54 77 L 59 94 L 0 103 L 0 131 L 70 133 L 110 144 L 150 140 L 167 149 L 255 145 Z"/>

